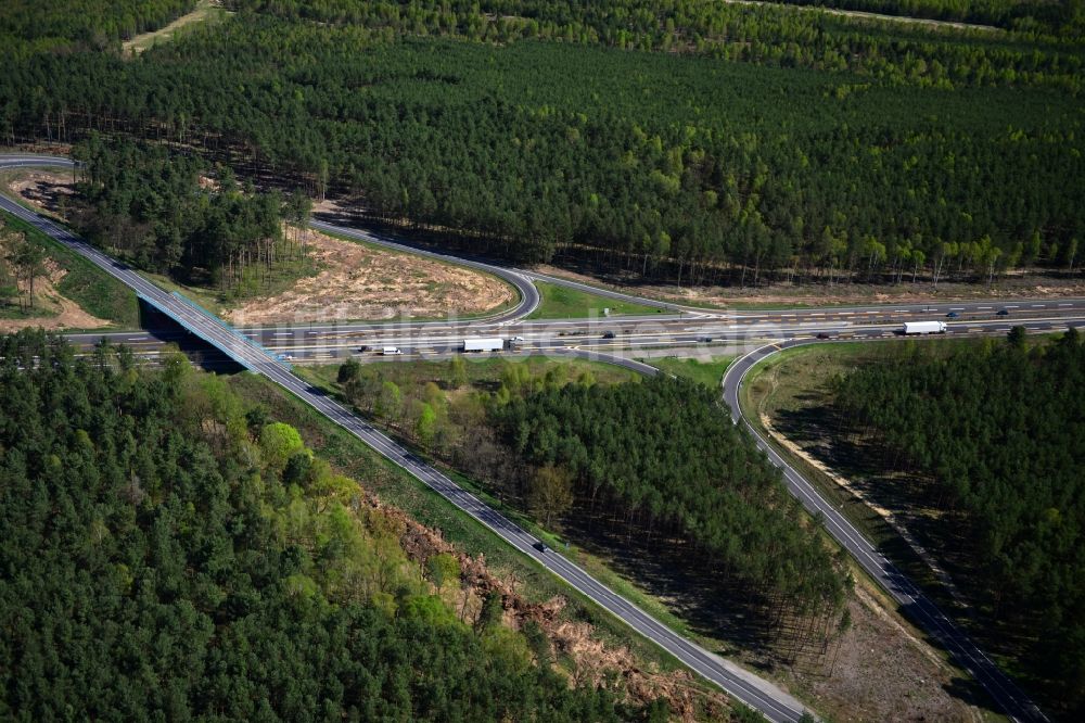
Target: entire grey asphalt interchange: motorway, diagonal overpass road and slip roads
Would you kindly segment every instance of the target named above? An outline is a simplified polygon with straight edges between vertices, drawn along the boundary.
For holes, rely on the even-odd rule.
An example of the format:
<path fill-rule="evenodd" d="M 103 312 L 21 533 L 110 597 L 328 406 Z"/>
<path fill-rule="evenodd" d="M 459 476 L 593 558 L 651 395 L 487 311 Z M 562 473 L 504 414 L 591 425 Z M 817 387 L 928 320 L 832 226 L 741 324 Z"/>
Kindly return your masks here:
<path fill-rule="evenodd" d="M 0 167 L 42 165 L 38 156 L 0 156 Z M 49 160 L 49 165 L 63 165 L 65 160 Z M 520 353 L 575 355 L 621 364 L 642 373 L 655 369 L 630 357 L 638 350 L 675 347 L 711 352 L 713 347 L 752 350 L 728 370 L 723 380 L 724 396 L 732 409 L 737 423 L 741 419 L 738 394 L 744 375 L 756 362 L 780 348 L 803 343 L 831 343 L 833 340 L 877 340 L 895 335 L 903 320 L 939 318 L 947 321 L 952 335 L 975 333 L 1005 333 L 1011 326 L 1025 326 L 1035 331 L 1059 330 L 1068 325 L 1085 326 L 1085 300 L 1014 300 L 1005 304 L 992 301 L 943 302 L 939 304 L 859 305 L 788 310 L 729 313 L 712 309 L 691 309 L 653 300 L 610 292 L 554 277 L 541 277 L 520 269 L 500 267 L 474 259 L 461 259 L 429 250 L 398 244 L 395 241 L 368 234 L 363 231 L 314 221 L 326 231 L 363 239 L 387 248 L 410 253 L 422 253 L 450 263 L 465 264 L 497 274 L 521 291 L 521 303 L 514 308 L 485 320 L 433 321 L 423 324 L 332 324 L 295 327 L 260 327 L 233 330 L 200 313 L 192 305 L 179 301 L 133 270 L 114 262 L 62 226 L 18 204 L 0 198 L 0 208 L 9 211 L 27 223 L 68 245 L 91 259 L 111 276 L 136 290 L 151 304 L 189 326 L 217 348 L 238 359 L 254 372 L 263 373 L 298 398 L 311 405 L 352 434 L 366 442 L 382 455 L 425 484 L 441 493 L 482 524 L 500 535 L 509 544 L 547 567 L 577 591 L 626 622 L 633 629 L 664 648 L 692 670 L 719 685 L 736 698 L 762 711 L 773 721 L 795 721 L 802 705 L 768 682 L 738 669 L 695 644 L 682 638 L 627 600 L 603 586 L 565 557 L 552 551 L 540 551 L 537 542 L 474 495 L 456 485 L 434 468 L 412 457 L 386 435 L 354 416 L 334 399 L 296 377 L 289 365 L 269 356 L 290 354 L 296 362 L 324 362 L 346 356 L 373 358 L 371 350 L 381 346 L 399 346 L 411 358 L 439 358 L 455 353 L 465 335 L 512 335 L 523 338 Z M 655 306 L 668 314 L 646 317 L 615 317 L 591 320 L 525 321 L 539 303 L 532 279 L 545 279 L 610 297 Z M 999 313 L 1005 313 L 1000 316 Z M 949 317 L 948 315 L 954 315 Z M 613 338 L 610 338 L 610 333 Z M 174 335 L 170 337 L 170 333 Z M 105 337 L 115 343 L 126 343 L 148 350 L 163 342 L 179 339 L 177 332 L 110 332 L 73 335 L 76 343 L 90 345 Z M 819 340 L 825 337 L 826 340 Z M 749 427 L 749 424 L 748 424 Z M 959 629 L 946 619 L 892 563 L 821 498 L 814 487 L 794 469 L 787 466 L 752 429 L 754 439 L 769 459 L 781 468 L 791 492 L 812 513 L 820 513 L 827 531 L 843 545 L 863 568 L 871 574 L 902 606 L 902 609 L 932 636 L 940 640 L 958 663 L 969 671 L 991 694 L 995 702 L 1011 718 L 1019 721 L 1046 721 L 1032 703 L 995 664 L 979 650 Z"/>

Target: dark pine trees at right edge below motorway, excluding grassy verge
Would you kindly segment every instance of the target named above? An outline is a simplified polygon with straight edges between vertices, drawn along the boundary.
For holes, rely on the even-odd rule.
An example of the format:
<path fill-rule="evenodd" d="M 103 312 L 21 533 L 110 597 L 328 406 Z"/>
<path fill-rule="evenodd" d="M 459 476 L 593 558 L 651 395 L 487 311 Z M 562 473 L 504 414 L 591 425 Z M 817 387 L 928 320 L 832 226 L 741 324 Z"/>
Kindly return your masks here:
<path fill-rule="evenodd" d="M 967 560 L 958 583 L 1070 719 L 1085 714 L 1083 384 L 1076 331 L 1035 346 L 1014 332 L 857 368 L 834 403 L 851 432 L 878 440 L 881 464 L 918 473 L 897 492 L 937 510 Z"/>

